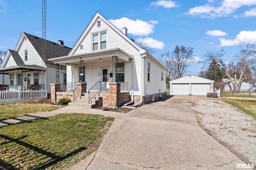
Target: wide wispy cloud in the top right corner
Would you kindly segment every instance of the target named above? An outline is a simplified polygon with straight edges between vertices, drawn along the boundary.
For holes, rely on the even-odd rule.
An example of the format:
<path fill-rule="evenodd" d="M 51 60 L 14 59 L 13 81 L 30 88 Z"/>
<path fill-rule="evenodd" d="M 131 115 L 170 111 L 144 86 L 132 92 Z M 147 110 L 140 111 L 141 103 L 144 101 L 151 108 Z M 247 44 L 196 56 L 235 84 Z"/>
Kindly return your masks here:
<path fill-rule="evenodd" d="M 200 16 L 202 18 L 215 18 L 228 16 L 229 14 L 236 12 L 236 10 L 242 6 L 253 5 L 256 5 L 256 0 L 222 0 L 222 2 L 217 6 L 205 4 L 203 6 L 190 8 L 186 14 L 192 16 Z"/>

